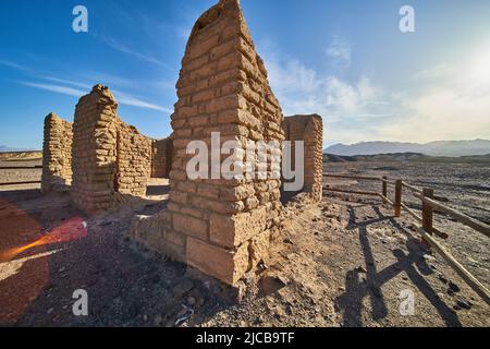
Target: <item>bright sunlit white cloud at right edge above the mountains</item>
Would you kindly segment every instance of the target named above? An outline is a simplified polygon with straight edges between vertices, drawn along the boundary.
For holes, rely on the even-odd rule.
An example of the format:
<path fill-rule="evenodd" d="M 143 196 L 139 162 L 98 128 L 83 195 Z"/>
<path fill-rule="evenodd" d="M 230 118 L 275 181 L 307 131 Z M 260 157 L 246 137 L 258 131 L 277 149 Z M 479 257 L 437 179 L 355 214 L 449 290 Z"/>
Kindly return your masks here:
<path fill-rule="evenodd" d="M 415 74 L 417 91 L 400 94 L 401 110 L 382 134 L 402 141 L 490 139 L 490 49 Z"/>

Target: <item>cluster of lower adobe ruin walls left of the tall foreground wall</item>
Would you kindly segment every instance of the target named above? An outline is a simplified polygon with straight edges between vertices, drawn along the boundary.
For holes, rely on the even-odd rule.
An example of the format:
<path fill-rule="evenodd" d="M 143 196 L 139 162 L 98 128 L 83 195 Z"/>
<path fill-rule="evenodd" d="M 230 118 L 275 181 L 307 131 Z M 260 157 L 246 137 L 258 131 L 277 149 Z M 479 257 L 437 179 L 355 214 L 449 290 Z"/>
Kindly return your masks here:
<path fill-rule="evenodd" d="M 46 117 L 44 192 L 71 185 L 75 206 L 97 213 L 121 195 L 144 196 L 151 177 L 168 176 L 169 139 L 142 135 L 117 109 L 109 88 L 96 85 L 78 100 L 73 124 L 54 113 Z"/>

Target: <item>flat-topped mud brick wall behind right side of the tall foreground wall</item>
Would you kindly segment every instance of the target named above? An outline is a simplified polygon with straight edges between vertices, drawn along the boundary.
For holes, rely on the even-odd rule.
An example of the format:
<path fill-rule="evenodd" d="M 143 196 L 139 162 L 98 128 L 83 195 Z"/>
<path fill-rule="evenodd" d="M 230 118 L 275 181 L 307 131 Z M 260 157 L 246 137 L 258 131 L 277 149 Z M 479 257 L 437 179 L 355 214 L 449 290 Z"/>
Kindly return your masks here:
<path fill-rule="evenodd" d="M 304 141 L 304 186 L 303 192 L 310 194 L 314 201 L 321 201 L 323 177 L 323 122 L 318 115 L 293 116 L 284 118 L 282 128 L 285 139 L 292 141 L 292 163 L 294 141 Z"/>

